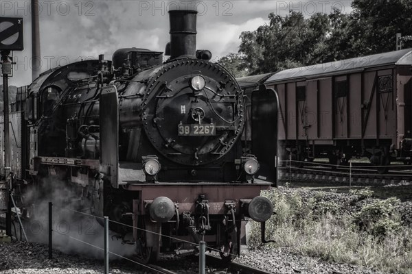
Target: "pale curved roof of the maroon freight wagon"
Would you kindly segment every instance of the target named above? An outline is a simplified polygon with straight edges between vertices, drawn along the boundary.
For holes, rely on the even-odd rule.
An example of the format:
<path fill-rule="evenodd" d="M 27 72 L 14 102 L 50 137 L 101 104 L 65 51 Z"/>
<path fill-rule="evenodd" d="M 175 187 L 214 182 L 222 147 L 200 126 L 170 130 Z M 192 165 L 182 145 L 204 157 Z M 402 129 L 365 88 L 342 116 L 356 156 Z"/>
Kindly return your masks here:
<path fill-rule="evenodd" d="M 391 51 L 346 60 L 339 60 L 323 64 L 314 64 L 295 69 L 280 71 L 270 77 L 266 84 L 271 82 L 280 82 L 288 79 L 314 78 L 321 75 L 334 75 L 343 72 L 360 71 L 362 69 L 374 66 L 394 64 L 412 65 L 412 49 L 402 49 L 400 51 Z"/>

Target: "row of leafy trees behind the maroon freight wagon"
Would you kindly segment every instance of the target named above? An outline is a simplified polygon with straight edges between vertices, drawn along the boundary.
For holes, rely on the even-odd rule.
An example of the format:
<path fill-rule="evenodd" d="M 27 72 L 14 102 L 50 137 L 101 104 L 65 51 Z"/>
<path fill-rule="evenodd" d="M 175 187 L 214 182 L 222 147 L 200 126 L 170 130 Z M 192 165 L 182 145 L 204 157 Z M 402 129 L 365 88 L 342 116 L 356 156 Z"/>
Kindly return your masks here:
<path fill-rule="evenodd" d="M 350 14 L 334 9 L 310 18 L 299 12 L 272 12 L 269 23 L 240 35 L 242 62 L 234 71 L 271 73 L 393 51 L 398 32 L 404 38 L 402 47 L 412 47 L 411 14 L 410 0 L 354 0 Z"/>

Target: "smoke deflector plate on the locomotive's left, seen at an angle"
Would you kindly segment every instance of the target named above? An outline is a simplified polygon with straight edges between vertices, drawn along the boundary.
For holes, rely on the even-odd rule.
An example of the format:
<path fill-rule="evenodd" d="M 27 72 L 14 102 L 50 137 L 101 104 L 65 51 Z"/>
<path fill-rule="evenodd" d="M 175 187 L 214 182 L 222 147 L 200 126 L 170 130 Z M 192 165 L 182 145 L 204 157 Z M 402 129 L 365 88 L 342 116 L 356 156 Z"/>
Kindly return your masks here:
<path fill-rule="evenodd" d="M 100 171 L 118 188 L 119 176 L 119 99 L 115 86 L 102 88 L 100 109 Z"/>

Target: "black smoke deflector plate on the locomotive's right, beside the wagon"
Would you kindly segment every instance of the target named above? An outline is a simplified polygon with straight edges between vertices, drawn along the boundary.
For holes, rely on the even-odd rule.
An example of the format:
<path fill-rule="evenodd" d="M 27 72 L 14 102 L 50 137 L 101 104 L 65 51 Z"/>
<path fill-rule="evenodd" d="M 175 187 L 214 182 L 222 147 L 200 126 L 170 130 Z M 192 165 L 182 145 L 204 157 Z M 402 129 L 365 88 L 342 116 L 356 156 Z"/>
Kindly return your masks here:
<path fill-rule="evenodd" d="M 273 186 L 277 186 L 278 103 L 275 90 L 263 84 L 252 92 L 252 153 L 260 162 L 256 177 L 266 177 Z"/>

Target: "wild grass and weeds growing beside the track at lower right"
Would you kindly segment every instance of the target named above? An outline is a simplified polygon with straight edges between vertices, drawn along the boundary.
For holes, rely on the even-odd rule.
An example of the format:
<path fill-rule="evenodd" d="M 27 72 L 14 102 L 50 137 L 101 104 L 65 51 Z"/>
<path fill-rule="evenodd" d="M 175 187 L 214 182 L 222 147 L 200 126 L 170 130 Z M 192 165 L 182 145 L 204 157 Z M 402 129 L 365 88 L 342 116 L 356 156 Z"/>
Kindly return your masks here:
<path fill-rule="evenodd" d="M 273 245 L 325 261 L 412 273 L 412 228 L 400 221 L 398 199 L 371 199 L 370 190 L 352 193 L 343 202 L 324 192 L 310 198 L 301 193 L 274 189 L 264 194 L 276 212 L 266 223 Z M 260 226 L 255 223 L 249 247 L 259 245 Z"/>

